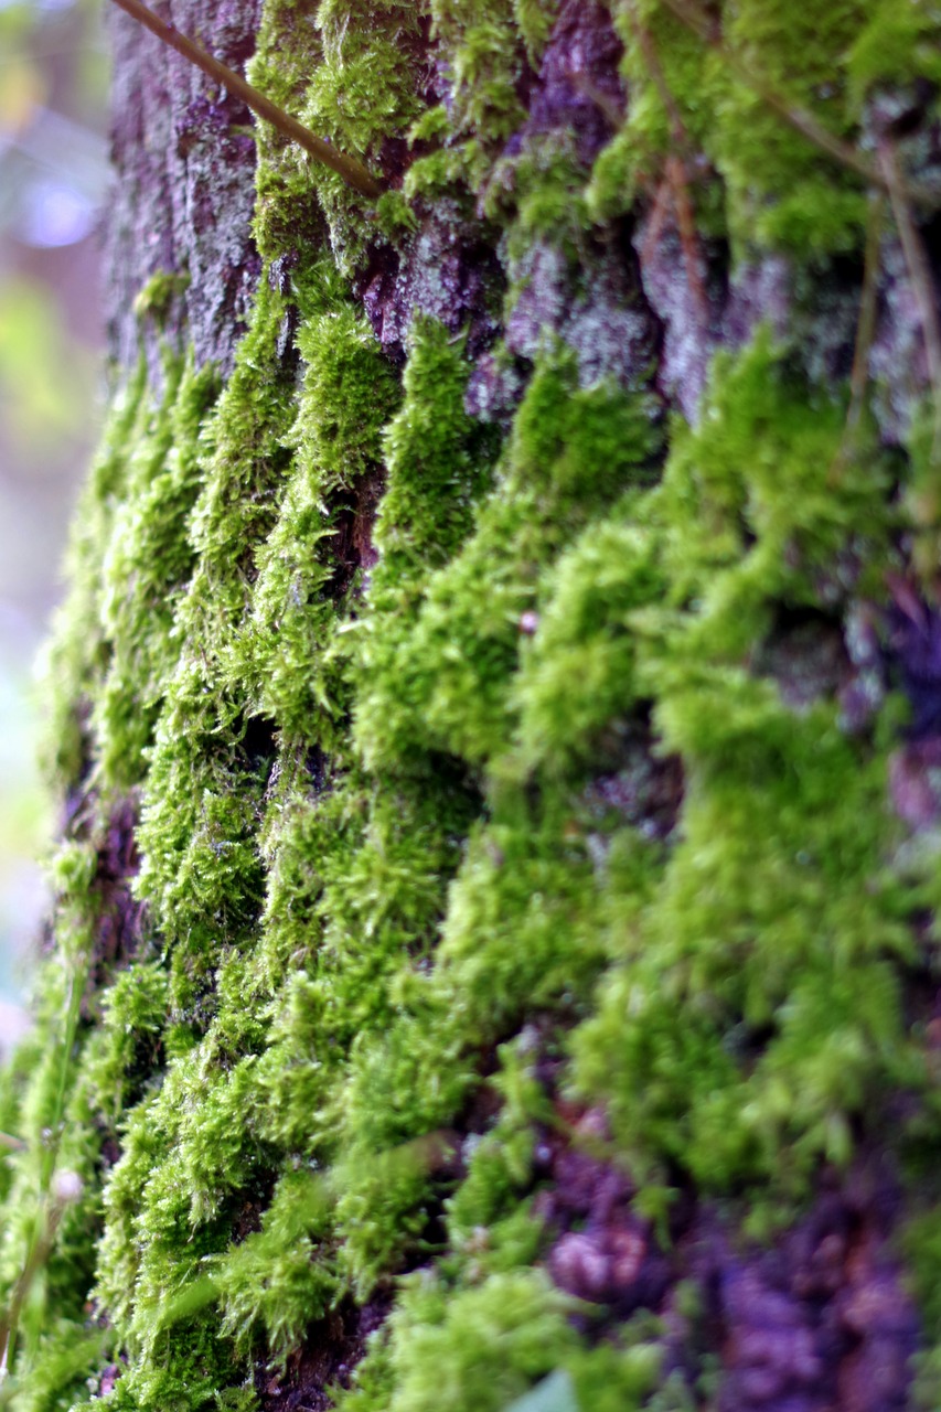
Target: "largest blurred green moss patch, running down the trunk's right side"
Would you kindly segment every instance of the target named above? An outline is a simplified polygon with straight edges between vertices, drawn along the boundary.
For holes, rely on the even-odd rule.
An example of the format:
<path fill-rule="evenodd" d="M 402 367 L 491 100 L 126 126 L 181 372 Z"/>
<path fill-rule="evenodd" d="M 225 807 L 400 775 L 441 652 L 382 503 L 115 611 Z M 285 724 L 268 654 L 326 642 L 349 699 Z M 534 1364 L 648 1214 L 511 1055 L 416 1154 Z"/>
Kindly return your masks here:
<path fill-rule="evenodd" d="M 675 609 L 632 618 L 639 688 L 684 761 L 682 837 L 575 1048 L 633 1152 L 719 1189 L 733 1173 L 800 1187 L 821 1156 L 846 1161 L 853 1115 L 918 1072 L 894 969 L 911 943 L 883 881 L 884 764 L 834 705 L 795 712 L 750 665 L 771 602 L 811 602 L 848 534 L 877 562 L 884 527 L 851 508 L 862 481 L 819 484 L 838 439 L 838 409 L 791 394 L 766 340 L 718 369 L 651 501 Z M 869 473 L 879 505 L 877 459 Z"/>

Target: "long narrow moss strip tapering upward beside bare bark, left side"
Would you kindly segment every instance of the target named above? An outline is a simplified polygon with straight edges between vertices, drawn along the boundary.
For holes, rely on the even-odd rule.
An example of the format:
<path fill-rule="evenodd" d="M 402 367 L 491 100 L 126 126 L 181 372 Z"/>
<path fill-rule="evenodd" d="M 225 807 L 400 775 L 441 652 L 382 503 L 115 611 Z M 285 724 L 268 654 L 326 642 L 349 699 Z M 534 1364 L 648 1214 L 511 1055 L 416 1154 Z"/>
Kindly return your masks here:
<path fill-rule="evenodd" d="M 233 377 L 205 428 L 202 493 L 188 534 L 196 568 L 174 624 L 175 659 L 141 808 L 141 899 L 174 955 L 181 1021 L 229 945 L 254 922 L 263 894 L 253 830 L 267 770 L 244 748 L 250 702 L 233 651 L 250 610 L 250 561 L 274 521 L 270 490 L 285 476 L 290 385 L 276 346 L 281 305 L 261 297 Z"/>

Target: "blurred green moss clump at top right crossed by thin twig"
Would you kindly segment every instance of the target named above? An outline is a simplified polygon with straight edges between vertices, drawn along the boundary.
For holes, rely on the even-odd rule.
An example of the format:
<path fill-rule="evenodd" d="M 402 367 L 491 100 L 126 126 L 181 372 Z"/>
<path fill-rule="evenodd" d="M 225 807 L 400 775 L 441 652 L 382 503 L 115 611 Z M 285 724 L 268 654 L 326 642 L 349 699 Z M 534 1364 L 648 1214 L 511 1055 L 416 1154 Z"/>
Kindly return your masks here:
<path fill-rule="evenodd" d="M 852 140 L 860 85 L 876 72 L 863 79 L 865 56 L 848 72 L 848 56 L 870 8 L 848 0 L 829 6 L 819 24 L 784 3 L 723 6 L 722 44 L 711 49 L 657 0 L 616 6 L 629 106 L 622 133 L 598 158 L 591 209 L 610 216 L 636 195 L 656 193 L 678 119 L 687 158 L 704 152 L 722 178 L 716 192 L 697 182 L 687 162 L 699 229 L 725 229 L 742 250 L 770 246 L 801 261 L 858 249 L 865 225 L 859 178 L 795 131 L 767 95 Z"/>

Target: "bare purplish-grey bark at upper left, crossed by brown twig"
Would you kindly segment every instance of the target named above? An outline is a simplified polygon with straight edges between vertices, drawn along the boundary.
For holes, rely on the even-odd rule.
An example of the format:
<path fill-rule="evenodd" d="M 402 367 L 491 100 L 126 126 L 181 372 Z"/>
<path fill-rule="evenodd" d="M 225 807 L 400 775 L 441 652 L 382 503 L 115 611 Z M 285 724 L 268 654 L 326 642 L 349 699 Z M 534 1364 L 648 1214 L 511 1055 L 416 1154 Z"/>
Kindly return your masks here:
<path fill-rule="evenodd" d="M 243 0 L 177 4 L 172 20 L 242 69 L 254 49 L 259 11 Z M 124 376 L 133 370 L 141 305 L 153 308 L 157 297 L 161 323 L 192 343 L 199 363 L 215 360 L 229 373 L 260 271 L 251 237 L 251 114 L 123 11 L 107 18 L 114 55 L 114 184 L 105 225 L 112 357 Z M 153 328 L 143 333 L 158 381 Z"/>

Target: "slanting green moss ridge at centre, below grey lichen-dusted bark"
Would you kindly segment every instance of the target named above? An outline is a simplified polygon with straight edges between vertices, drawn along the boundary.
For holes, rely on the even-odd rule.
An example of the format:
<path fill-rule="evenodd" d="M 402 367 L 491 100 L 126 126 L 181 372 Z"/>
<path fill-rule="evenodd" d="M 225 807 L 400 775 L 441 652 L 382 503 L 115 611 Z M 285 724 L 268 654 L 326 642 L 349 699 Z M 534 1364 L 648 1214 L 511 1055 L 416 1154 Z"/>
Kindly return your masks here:
<path fill-rule="evenodd" d="M 381 724 L 369 760 L 421 740 L 479 764 L 507 741 L 509 683 L 543 566 L 625 480 L 644 477 L 656 445 L 643 397 L 578 390 L 574 359 L 547 354 L 473 535 L 428 583 L 415 628 L 389 664 L 381 705 L 383 679 L 370 683 Z"/>

